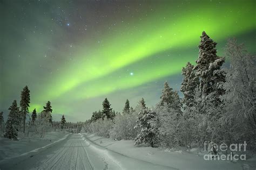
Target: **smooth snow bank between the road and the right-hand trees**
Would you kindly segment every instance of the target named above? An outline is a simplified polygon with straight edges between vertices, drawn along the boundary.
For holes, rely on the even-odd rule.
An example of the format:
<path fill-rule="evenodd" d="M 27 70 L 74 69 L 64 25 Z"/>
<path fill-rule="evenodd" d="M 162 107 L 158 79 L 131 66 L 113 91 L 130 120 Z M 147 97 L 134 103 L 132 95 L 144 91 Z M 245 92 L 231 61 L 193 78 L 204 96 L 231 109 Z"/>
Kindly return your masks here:
<path fill-rule="evenodd" d="M 192 149 L 190 152 L 168 151 L 160 148 L 152 148 L 145 146 L 134 146 L 132 140 L 113 141 L 94 134 L 83 134 L 93 144 L 102 146 L 107 150 L 120 153 L 126 157 L 152 162 L 157 165 L 164 165 L 177 169 L 255 169 L 255 158 L 246 161 L 221 161 L 221 160 L 204 160 L 203 154 L 198 156 L 198 150 Z"/>

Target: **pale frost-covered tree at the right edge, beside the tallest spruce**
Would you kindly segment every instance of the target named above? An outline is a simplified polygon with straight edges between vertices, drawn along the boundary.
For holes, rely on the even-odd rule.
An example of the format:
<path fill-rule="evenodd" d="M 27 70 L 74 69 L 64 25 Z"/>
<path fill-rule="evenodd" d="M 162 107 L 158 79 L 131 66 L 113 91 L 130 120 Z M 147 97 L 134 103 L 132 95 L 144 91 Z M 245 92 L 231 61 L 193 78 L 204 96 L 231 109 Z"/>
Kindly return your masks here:
<path fill-rule="evenodd" d="M 232 130 L 231 143 L 246 141 L 256 149 L 256 56 L 246 52 L 244 45 L 235 39 L 228 40 L 226 55 L 230 58 L 223 96 L 226 112 L 223 124 Z M 227 135 L 226 135 L 227 136 Z"/>

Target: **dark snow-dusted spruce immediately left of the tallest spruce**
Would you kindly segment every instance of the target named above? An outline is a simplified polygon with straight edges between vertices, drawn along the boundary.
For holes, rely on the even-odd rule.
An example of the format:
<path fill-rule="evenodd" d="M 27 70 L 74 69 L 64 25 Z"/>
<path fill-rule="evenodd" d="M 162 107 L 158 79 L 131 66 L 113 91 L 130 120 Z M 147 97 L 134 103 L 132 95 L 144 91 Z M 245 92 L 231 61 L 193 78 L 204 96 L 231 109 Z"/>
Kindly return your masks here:
<path fill-rule="evenodd" d="M 196 72 L 193 70 L 194 66 L 187 62 L 186 67 L 182 68 L 182 75 L 184 76 L 181 83 L 180 91 L 184 97 L 182 103 L 184 107 L 192 107 L 194 104 L 195 90 L 199 86 L 199 77 L 196 76 Z"/>

